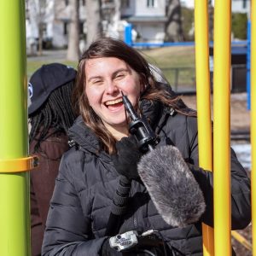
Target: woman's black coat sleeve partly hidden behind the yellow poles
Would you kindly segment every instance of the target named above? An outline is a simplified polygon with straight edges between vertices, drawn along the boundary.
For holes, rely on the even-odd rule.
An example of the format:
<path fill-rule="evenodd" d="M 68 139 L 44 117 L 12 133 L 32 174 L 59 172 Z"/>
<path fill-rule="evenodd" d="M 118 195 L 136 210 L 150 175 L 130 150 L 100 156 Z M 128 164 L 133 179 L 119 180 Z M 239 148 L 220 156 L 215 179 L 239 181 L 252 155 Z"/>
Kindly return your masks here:
<path fill-rule="evenodd" d="M 204 194 L 207 210 L 202 221 L 213 226 L 213 175 L 199 166 L 197 124 L 195 118 L 188 118 L 188 137 L 190 148 L 189 167 Z M 230 183 L 231 183 L 231 228 L 244 229 L 251 221 L 251 187 L 247 172 L 230 148 Z"/>

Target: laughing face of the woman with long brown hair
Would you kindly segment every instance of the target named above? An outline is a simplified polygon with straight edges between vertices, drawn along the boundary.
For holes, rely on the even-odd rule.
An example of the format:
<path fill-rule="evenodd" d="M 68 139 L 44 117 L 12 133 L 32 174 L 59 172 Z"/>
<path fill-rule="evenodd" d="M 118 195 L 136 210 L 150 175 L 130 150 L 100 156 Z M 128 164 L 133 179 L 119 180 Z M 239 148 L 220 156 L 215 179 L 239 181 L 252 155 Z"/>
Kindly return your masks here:
<path fill-rule="evenodd" d="M 85 64 L 85 93 L 90 107 L 102 119 L 108 131 L 127 131 L 123 91 L 133 106 L 143 90 L 143 83 L 131 67 L 114 57 L 90 59 Z"/>

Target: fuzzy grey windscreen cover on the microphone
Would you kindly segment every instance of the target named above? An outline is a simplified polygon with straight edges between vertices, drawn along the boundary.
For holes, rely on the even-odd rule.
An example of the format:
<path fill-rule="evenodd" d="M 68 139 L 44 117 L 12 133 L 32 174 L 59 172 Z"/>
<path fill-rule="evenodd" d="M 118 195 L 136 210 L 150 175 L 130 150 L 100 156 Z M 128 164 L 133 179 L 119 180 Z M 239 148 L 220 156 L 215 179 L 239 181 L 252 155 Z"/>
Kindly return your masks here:
<path fill-rule="evenodd" d="M 202 191 L 176 147 L 162 146 L 149 151 L 137 169 L 167 224 L 183 227 L 201 218 L 206 209 Z"/>

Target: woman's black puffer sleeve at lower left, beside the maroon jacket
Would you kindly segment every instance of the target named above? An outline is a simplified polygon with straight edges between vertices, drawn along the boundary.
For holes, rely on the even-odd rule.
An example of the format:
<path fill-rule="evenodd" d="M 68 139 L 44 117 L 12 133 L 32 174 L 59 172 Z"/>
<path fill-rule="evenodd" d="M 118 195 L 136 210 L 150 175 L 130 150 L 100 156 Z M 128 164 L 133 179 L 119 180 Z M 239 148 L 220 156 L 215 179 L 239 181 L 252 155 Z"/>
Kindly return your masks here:
<path fill-rule="evenodd" d="M 79 195 L 62 158 L 50 202 L 42 255 L 100 255 L 106 237 L 95 238 L 90 227 L 90 216 L 86 216 L 82 210 Z"/>

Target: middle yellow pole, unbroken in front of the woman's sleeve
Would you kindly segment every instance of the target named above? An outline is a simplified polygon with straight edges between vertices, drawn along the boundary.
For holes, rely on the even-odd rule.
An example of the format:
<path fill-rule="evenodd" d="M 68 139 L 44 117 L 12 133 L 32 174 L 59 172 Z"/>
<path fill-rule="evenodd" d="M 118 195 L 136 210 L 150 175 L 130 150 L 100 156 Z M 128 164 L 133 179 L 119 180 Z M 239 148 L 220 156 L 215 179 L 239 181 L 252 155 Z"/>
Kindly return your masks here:
<path fill-rule="evenodd" d="M 214 3 L 213 195 L 215 255 L 231 255 L 230 237 L 230 19 L 231 1 Z"/>

